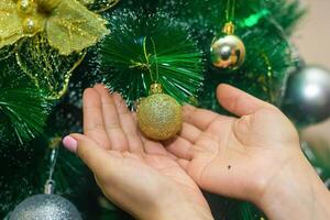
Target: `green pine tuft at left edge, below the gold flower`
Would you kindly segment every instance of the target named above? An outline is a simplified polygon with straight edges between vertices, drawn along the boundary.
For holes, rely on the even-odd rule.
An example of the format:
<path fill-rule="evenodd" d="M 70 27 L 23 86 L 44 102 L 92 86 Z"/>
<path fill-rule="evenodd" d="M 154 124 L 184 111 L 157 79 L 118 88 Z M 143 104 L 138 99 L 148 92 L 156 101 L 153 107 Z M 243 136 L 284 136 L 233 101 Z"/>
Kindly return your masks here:
<path fill-rule="evenodd" d="M 35 88 L 13 62 L 0 64 L 0 132 L 1 140 L 10 140 L 12 132 L 20 143 L 42 133 L 50 110 L 44 94 Z"/>

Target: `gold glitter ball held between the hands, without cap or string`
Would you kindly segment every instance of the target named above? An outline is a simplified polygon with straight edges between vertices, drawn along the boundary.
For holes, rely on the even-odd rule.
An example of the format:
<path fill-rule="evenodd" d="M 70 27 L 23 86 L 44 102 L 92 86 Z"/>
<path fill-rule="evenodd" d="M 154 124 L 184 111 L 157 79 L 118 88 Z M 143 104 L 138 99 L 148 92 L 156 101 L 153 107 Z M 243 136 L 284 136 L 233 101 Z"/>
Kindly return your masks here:
<path fill-rule="evenodd" d="M 170 139 L 182 130 L 182 106 L 168 95 L 153 94 L 139 103 L 138 122 L 147 138 L 157 141 Z"/>

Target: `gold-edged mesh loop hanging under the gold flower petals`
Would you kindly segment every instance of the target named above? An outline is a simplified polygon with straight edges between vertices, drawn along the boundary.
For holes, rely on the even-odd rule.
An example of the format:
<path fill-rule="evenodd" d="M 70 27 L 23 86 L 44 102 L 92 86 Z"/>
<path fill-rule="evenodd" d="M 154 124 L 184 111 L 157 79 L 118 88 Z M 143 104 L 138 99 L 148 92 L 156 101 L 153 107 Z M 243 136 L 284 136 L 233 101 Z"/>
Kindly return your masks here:
<path fill-rule="evenodd" d="M 18 43 L 16 64 L 48 100 L 58 100 L 67 91 L 74 70 L 81 64 L 86 51 L 59 55 L 50 46 L 44 33 Z"/>

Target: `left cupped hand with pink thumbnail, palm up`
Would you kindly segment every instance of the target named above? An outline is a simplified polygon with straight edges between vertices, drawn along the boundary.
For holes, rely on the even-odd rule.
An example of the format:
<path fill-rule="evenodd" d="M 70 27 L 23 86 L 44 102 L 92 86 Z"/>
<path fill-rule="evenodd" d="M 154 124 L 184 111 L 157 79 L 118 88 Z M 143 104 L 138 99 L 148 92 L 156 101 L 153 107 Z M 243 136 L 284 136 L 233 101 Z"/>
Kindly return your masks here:
<path fill-rule="evenodd" d="M 103 194 L 138 219 L 212 219 L 195 182 L 158 142 L 143 138 L 119 95 L 84 94 L 84 135 L 64 145 L 94 172 Z"/>

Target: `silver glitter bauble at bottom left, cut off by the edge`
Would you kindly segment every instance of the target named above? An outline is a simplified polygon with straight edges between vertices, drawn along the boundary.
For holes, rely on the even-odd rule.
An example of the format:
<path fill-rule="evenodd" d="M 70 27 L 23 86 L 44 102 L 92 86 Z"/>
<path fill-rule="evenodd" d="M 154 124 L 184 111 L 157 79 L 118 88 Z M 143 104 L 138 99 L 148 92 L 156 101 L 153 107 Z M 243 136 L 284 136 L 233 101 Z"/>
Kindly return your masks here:
<path fill-rule="evenodd" d="M 36 195 L 22 201 L 9 220 L 81 220 L 76 207 L 57 195 Z"/>

